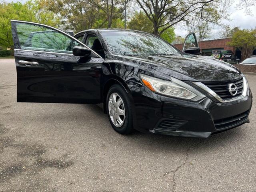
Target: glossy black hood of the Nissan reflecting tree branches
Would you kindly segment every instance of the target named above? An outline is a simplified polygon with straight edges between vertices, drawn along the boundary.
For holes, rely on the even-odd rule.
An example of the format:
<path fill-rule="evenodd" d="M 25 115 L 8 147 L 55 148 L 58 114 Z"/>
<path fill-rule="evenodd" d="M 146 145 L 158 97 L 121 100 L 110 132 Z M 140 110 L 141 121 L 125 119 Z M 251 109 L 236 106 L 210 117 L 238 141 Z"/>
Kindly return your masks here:
<path fill-rule="evenodd" d="M 226 81 L 244 76 L 237 68 L 210 56 L 119 56 L 152 73 L 163 73 L 180 80 Z"/>

